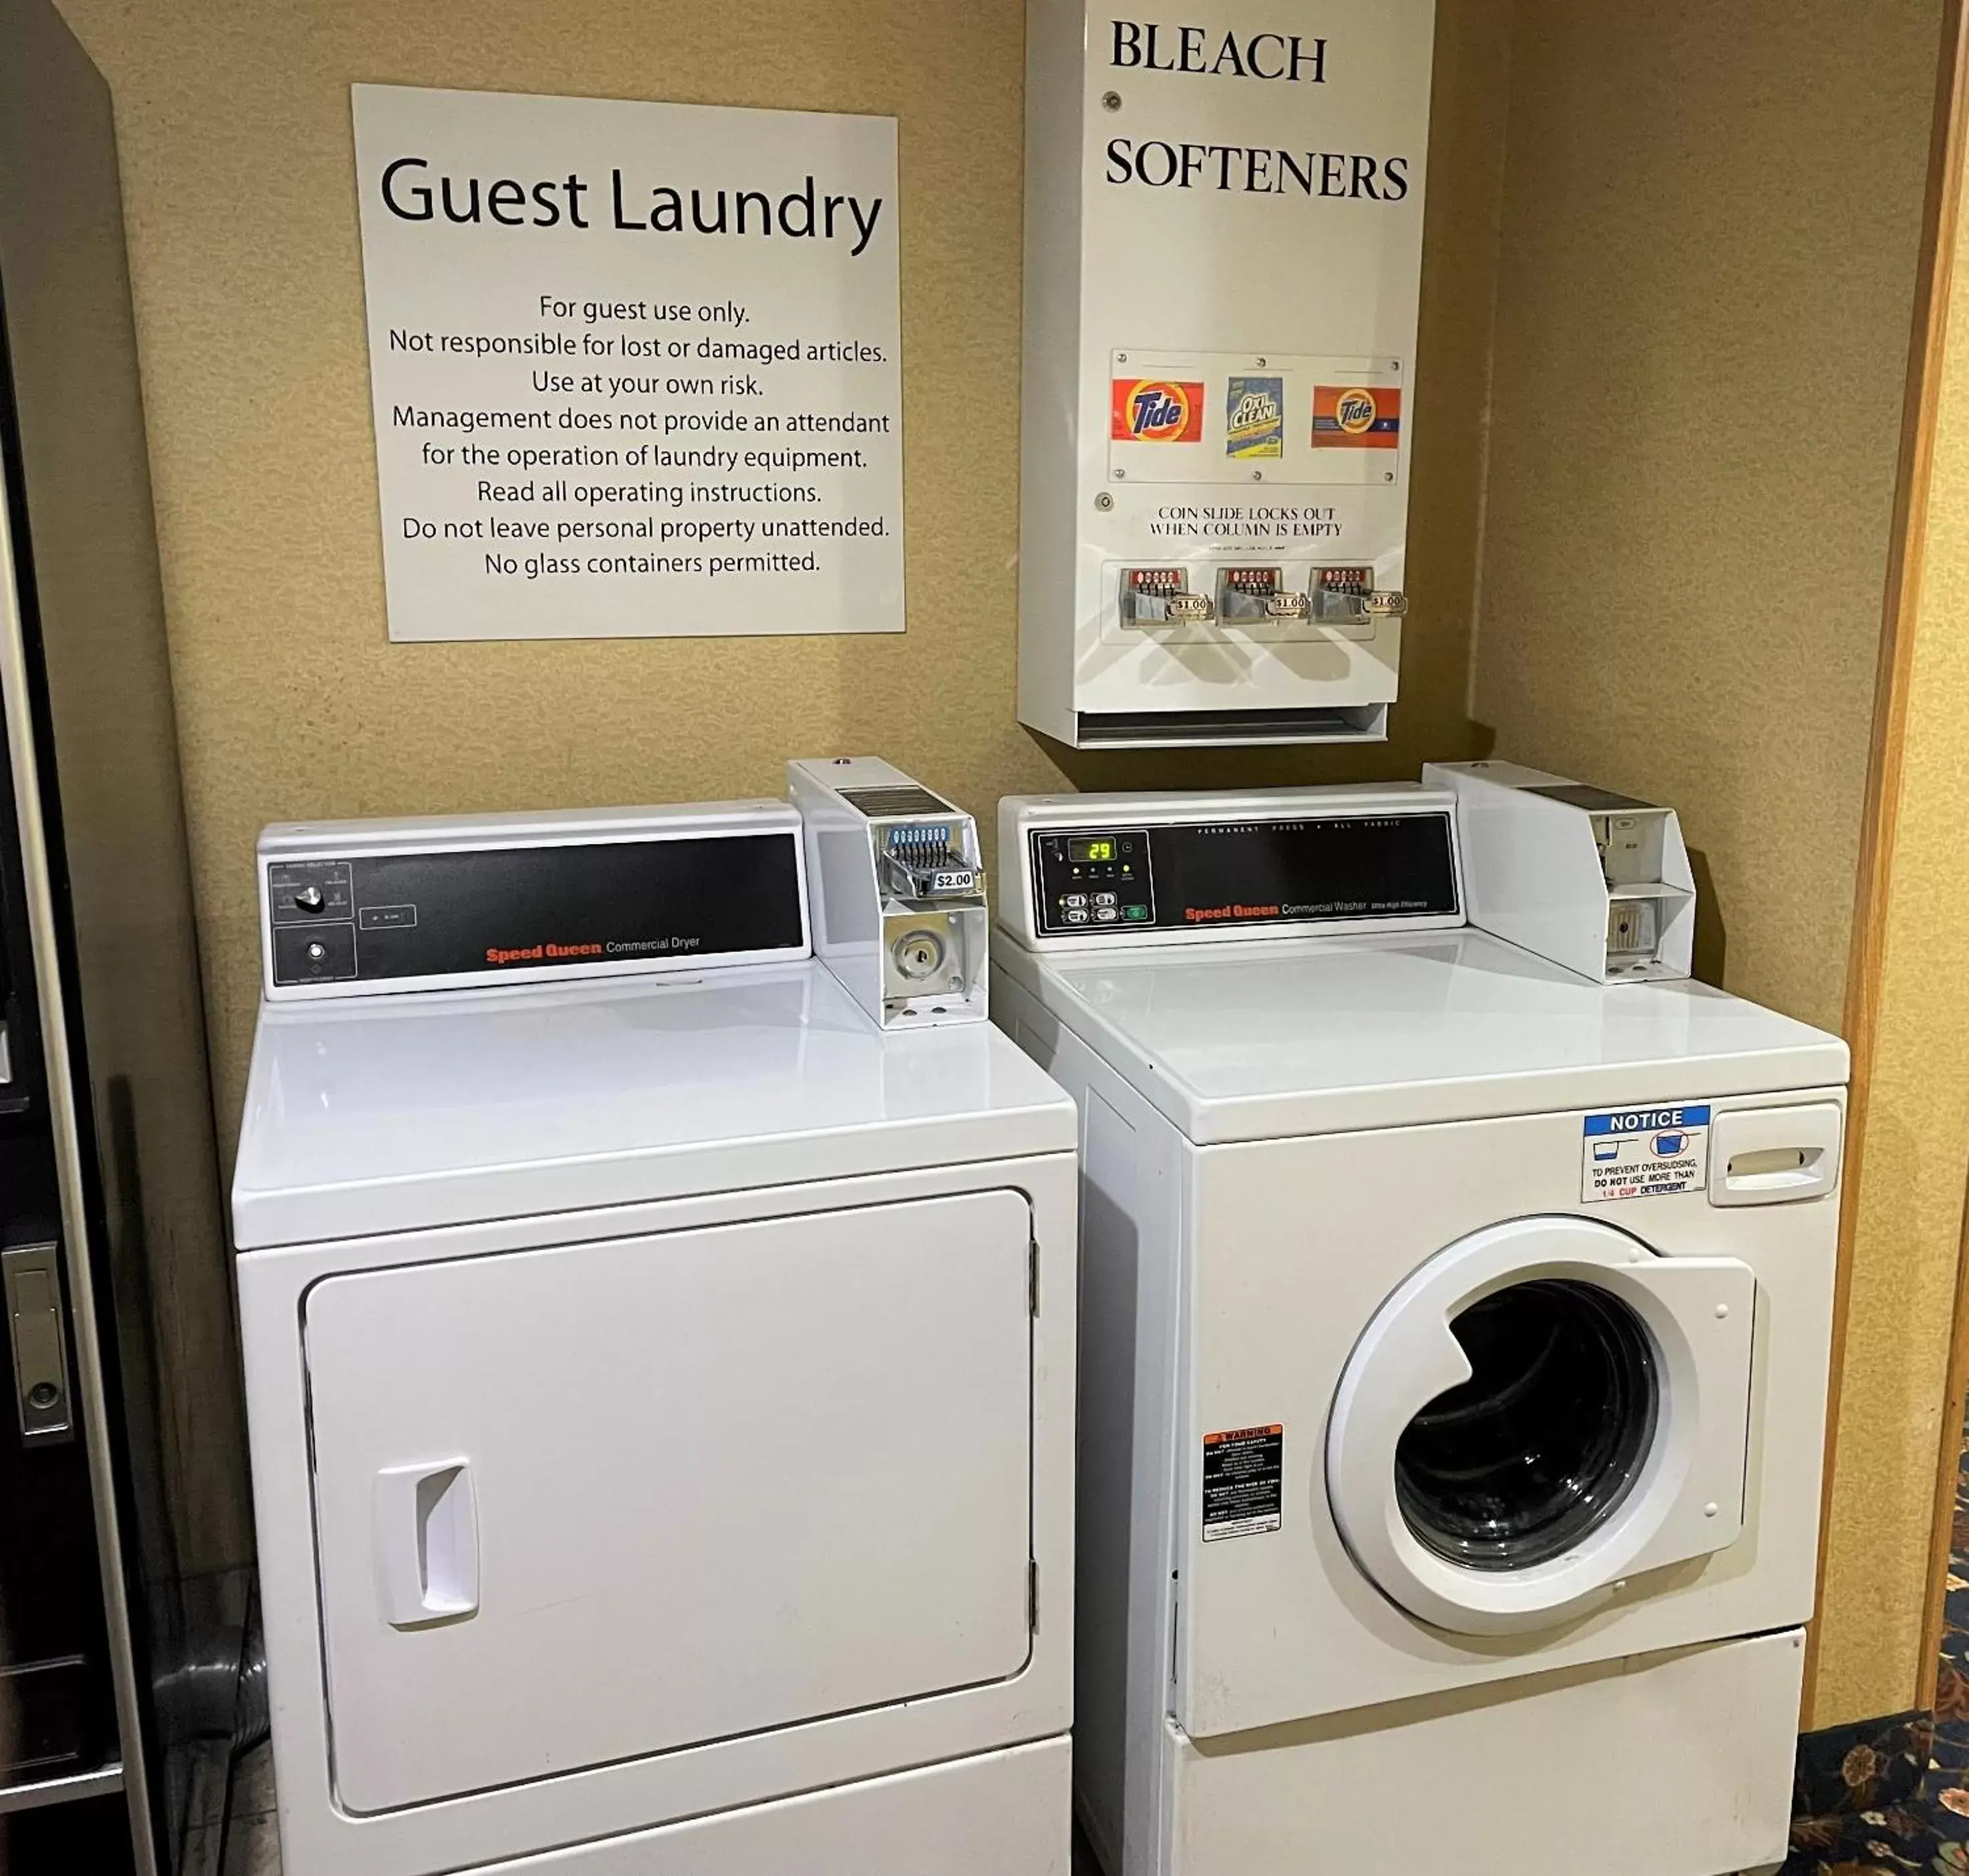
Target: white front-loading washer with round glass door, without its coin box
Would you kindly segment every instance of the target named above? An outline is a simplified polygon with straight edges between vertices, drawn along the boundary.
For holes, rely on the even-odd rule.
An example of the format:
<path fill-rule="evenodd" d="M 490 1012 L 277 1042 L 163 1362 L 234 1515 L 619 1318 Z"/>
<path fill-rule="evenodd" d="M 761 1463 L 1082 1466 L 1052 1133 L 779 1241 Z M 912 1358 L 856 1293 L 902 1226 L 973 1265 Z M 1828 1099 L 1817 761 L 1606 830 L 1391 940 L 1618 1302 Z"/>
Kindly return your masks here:
<path fill-rule="evenodd" d="M 1109 1876 L 1784 1854 L 1847 1049 L 1469 929 L 1455 813 L 1000 811 L 992 1014 L 1081 1106 Z"/>

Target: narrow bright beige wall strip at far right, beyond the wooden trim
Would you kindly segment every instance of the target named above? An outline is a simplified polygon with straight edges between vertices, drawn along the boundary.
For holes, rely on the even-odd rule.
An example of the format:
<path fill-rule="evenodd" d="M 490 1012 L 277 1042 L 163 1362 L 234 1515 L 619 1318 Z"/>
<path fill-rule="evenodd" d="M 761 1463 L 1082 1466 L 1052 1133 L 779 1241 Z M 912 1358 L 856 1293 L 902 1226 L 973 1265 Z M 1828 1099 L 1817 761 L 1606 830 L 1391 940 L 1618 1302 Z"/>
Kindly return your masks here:
<path fill-rule="evenodd" d="M 1969 191 L 1961 197 L 1969 211 Z M 1825 1557 L 1819 1724 L 1910 1705 L 1969 1175 L 1969 215 L 1949 337 L 1853 1232 L 1845 1390 Z M 1906 626 L 1902 628 L 1906 630 Z M 1916 1665 L 1920 1665 L 1916 1661 Z"/>

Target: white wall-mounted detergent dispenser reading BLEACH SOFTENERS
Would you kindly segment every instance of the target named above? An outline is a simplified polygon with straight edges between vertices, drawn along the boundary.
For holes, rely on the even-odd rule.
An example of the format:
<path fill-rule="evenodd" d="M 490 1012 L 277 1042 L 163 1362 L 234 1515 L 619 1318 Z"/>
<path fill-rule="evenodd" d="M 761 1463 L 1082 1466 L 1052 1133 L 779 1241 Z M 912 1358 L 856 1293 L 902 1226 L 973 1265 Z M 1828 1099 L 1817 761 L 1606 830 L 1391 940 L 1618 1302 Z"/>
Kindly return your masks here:
<path fill-rule="evenodd" d="M 1032 0 L 1020 720 L 1386 734 L 1433 0 Z M 1426 628 L 1426 622 L 1418 622 Z"/>

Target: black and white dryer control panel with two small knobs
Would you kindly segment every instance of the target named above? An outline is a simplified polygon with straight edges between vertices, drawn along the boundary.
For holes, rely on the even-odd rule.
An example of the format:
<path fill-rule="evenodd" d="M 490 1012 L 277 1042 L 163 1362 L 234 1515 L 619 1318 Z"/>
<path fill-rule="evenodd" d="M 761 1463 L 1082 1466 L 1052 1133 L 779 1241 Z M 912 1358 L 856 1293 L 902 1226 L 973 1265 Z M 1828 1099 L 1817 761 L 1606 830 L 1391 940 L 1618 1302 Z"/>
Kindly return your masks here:
<path fill-rule="evenodd" d="M 807 955 L 799 815 L 784 801 L 260 835 L 272 1002 Z"/>

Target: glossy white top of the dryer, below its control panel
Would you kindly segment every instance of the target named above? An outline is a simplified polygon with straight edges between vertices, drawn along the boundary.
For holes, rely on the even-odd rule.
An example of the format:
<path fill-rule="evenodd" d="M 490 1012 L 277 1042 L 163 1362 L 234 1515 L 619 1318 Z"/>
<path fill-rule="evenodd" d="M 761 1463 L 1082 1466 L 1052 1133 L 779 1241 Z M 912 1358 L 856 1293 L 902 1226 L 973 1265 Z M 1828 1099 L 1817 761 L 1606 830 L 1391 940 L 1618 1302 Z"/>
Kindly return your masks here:
<path fill-rule="evenodd" d="M 240 1250 L 1071 1152 L 990 1024 L 880 1032 L 819 963 L 264 1004 Z"/>

